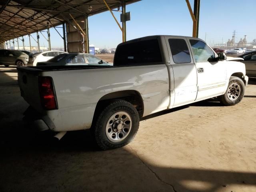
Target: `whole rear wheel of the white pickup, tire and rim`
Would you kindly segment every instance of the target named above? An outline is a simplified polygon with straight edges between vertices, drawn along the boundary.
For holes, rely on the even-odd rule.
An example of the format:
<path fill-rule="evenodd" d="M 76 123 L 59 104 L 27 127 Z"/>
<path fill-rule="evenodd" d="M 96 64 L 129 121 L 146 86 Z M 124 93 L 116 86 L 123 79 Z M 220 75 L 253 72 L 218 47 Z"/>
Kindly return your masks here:
<path fill-rule="evenodd" d="M 98 116 L 92 134 L 102 150 L 120 148 L 133 140 L 139 121 L 138 112 L 130 102 L 115 100 Z"/>

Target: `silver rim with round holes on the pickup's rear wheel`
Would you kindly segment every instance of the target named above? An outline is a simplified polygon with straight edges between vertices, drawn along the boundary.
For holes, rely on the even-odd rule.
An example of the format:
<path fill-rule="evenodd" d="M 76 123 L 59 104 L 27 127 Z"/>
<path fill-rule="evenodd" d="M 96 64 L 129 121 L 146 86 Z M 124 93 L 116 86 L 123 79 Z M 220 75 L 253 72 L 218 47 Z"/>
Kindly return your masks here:
<path fill-rule="evenodd" d="M 108 119 L 106 124 L 106 136 L 112 142 L 120 142 L 127 138 L 131 129 L 131 116 L 124 111 L 119 111 Z"/>

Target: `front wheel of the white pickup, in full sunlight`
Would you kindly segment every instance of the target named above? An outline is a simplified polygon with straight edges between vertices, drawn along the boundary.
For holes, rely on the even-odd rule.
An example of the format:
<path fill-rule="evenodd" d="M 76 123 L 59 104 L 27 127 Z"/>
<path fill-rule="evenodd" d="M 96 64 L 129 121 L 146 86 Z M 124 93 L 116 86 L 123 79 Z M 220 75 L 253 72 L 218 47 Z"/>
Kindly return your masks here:
<path fill-rule="evenodd" d="M 230 91 L 233 91 L 232 89 L 230 90 L 230 86 L 232 85 L 238 87 L 237 90 L 239 90 L 239 93 L 240 93 L 238 96 L 235 96 L 234 94 L 233 95 L 230 94 Z M 231 76 L 229 79 L 228 88 L 225 94 L 218 96 L 218 100 L 226 106 L 232 106 L 232 105 L 238 104 L 244 97 L 244 90 L 245 90 L 245 85 L 242 79 L 236 76 Z"/>

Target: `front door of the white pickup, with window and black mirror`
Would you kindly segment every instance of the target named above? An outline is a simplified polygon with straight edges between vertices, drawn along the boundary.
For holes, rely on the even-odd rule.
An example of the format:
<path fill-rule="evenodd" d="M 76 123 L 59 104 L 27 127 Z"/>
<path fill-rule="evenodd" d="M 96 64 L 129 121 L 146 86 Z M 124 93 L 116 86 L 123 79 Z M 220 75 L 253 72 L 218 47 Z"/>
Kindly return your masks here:
<path fill-rule="evenodd" d="M 226 61 L 216 61 L 216 54 L 203 41 L 189 38 L 197 72 L 196 100 L 223 94 L 226 85 Z"/>

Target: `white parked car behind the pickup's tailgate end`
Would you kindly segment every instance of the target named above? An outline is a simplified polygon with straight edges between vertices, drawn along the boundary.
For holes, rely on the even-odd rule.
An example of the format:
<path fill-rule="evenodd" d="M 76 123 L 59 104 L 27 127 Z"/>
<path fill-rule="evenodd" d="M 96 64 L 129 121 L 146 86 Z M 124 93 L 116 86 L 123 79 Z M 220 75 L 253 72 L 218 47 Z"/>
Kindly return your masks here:
<path fill-rule="evenodd" d="M 45 51 L 40 52 L 36 54 L 32 54 L 30 58 L 28 59 L 28 66 L 36 66 L 37 62 L 44 62 L 48 61 L 51 58 L 54 58 L 55 56 L 58 56 L 59 54 L 67 53 L 64 51 Z"/>

